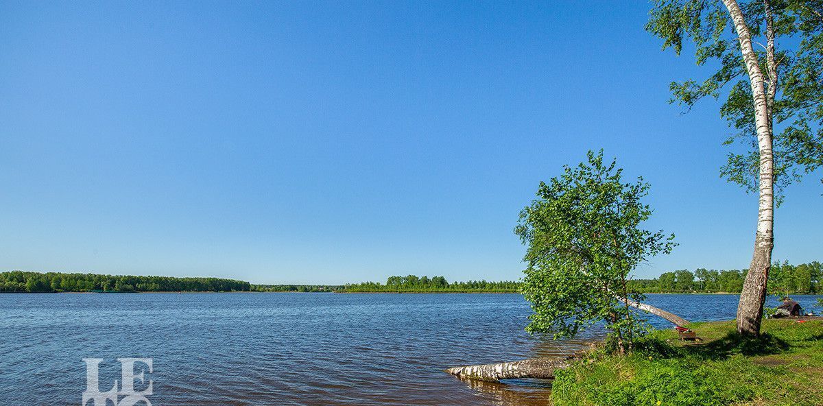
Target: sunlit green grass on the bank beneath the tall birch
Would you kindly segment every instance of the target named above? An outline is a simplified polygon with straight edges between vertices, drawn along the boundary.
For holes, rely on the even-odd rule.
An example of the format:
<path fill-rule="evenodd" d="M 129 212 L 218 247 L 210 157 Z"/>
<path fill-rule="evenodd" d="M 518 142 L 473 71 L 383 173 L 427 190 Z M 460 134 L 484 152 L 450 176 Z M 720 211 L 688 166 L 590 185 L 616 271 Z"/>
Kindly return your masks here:
<path fill-rule="evenodd" d="M 553 404 L 823 404 L 823 321 L 764 320 L 758 339 L 739 338 L 733 321 L 689 327 L 704 341 L 657 331 L 630 356 L 593 352 L 558 371 Z"/>

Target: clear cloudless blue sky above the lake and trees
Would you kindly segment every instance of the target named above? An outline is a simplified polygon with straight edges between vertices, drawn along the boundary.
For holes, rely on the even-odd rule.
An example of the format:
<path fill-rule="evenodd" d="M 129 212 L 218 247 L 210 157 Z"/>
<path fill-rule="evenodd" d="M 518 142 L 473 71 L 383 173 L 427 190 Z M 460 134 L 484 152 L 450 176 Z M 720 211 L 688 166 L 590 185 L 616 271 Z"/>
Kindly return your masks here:
<path fill-rule="evenodd" d="M 0 3 L 0 269 L 516 279 L 540 180 L 604 148 L 680 246 L 745 268 L 756 196 L 646 2 Z M 823 259 L 821 184 L 774 256 Z"/>

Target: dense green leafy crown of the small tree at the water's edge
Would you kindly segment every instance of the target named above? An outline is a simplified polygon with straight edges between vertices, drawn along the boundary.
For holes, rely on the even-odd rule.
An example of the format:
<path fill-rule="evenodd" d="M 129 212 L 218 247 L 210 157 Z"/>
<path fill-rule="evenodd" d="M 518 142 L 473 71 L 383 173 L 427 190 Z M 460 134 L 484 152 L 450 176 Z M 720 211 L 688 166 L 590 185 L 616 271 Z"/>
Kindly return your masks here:
<path fill-rule="evenodd" d="M 629 300 L 643 300 L 627 284 L 629 274 L 674 247 L 673 235 L 642 226 L 652 215 L 641 201 L 648 191 L 642 178 L 624 183 L 602 151 L 540 184 L 514 230 L 527 246 L 521 289 L 534 310 L 528 331 L 563 338 L 605 320 L 630 346 L 644 320 L 629 309 Z"/>

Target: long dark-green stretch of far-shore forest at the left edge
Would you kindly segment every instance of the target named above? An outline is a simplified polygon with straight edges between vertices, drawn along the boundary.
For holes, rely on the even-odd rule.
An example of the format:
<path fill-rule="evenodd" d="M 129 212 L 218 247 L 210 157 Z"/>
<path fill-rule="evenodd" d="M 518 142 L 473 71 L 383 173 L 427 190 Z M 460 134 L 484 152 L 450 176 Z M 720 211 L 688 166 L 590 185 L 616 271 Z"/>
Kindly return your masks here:
<path fill-rule="evenodd" d="M 248 292 L 249 282 L 223 278 L 99 275 L 95 273 L 0 273 L 0 292 Z"/>

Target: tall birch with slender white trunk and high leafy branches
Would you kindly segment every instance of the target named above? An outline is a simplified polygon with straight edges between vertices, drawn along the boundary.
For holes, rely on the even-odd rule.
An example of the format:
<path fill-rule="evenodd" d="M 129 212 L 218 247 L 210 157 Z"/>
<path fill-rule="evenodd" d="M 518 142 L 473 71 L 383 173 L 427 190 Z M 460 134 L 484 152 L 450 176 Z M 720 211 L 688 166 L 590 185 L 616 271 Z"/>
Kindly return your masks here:
<path fill-rule="evenodd" d="M 649 24 L 663 49 L 687 40 L 701 82 L 672 82 L 672 102 L 724 102 L 735 129 L 721 176 L 759 192 L 755 249 L 737 306 L 737 331 L 760 334 L 774 248 L 774 206 L 783 188 L 823 166 L 823 0 L 654 0 Z"/>

